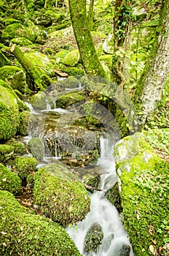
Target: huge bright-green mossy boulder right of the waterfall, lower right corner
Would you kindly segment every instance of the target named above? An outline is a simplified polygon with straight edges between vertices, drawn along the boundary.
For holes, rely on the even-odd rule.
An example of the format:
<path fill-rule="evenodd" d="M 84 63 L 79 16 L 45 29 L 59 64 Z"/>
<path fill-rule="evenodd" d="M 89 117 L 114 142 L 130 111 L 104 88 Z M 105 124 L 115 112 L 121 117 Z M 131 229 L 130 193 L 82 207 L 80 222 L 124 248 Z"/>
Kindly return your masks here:
<path fill-rule="evenodd" d="M 165 255 L 169 164 L 154 153 L 140 133 L 119 141 L 114 154 L 123 223 L 135 255 L 152 255 L 152 250 Z"/>

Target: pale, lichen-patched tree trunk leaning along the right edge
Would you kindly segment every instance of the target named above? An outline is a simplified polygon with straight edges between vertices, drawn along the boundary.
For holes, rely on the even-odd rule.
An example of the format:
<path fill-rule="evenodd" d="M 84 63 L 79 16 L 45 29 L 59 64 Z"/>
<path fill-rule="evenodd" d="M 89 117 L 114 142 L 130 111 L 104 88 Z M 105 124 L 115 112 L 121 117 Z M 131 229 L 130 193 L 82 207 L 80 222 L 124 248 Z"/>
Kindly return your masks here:
<path fill-rule="evenodd" d="M 138 80 L 133 100 L 140 113 L 141 125 L 152 115 L 162 97 L 169 72 L 169 1 L 164 0 L 152 55 Z"/>

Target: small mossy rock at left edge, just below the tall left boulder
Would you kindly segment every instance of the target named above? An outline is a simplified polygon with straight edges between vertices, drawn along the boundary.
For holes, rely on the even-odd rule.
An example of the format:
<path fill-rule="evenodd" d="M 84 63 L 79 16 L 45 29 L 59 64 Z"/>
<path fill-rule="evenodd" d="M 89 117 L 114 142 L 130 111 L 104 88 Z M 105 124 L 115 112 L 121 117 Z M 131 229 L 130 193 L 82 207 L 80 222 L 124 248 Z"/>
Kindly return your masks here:
<path fill-rule="evenodd" d="M 0 144 L 0 162 L 5 163 L 14 157 L 14 147 L 10 145 Z"/>

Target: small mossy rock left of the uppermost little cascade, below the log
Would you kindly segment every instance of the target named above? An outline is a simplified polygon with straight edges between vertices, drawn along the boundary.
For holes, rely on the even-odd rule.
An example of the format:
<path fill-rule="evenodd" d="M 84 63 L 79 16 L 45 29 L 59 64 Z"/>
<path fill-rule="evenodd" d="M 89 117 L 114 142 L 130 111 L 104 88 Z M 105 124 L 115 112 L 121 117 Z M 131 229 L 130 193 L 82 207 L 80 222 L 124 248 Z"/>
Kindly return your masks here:
<path fill-rule="evenodd" d="M 37 94 L 31 97 L 30 103 L 35 110 L 44 110 L 47 108 L 47 98 L 43 91 L 39 91 Z"/>

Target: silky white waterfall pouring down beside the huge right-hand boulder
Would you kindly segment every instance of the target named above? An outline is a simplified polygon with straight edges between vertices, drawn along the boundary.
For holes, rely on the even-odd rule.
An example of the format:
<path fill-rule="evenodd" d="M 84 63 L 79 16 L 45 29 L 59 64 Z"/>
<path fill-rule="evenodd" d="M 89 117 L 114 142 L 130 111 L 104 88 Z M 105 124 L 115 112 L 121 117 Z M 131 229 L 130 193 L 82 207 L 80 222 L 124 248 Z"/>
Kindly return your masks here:
<path fill-rule="evenodd" d="M 102 191 L 93 192 L 90 195 L 91 205 L 87 217 L 73 227 L 66 230 L 74 239 L 76 246 L 84 256 L 121 256 L 122 247 L 130 246 L 130 256 L 133 256 L 132 246 L 127 233 L 122 226 L 122 220 L 115 206 L 104 197 L 107 189 L 111 189 L 117 181 L 115 163 L 113 158 L 113 146 L 111 136 L 101 137 L 101 157 L 97 165 L 103 169 L 100 188 Z M 95 223 L 101 225 L 103 230 L 103 241 L 97 252 L 84 252 L 84 239 L 90 227 Z"/>

